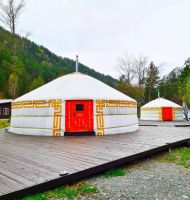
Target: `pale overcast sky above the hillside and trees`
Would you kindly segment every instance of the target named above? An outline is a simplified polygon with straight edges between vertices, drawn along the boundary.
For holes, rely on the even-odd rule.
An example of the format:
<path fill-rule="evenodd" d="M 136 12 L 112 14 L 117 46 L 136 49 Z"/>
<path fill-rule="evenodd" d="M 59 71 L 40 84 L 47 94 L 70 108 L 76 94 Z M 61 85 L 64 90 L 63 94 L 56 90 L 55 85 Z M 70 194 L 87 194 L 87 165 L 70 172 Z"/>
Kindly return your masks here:
<path fill-rule="evenodd" d="M 17 32 L 59 56 L 118 77 L 124 51 L 167 63 L 190 56 L 190 0 L 26 0 Z"/>

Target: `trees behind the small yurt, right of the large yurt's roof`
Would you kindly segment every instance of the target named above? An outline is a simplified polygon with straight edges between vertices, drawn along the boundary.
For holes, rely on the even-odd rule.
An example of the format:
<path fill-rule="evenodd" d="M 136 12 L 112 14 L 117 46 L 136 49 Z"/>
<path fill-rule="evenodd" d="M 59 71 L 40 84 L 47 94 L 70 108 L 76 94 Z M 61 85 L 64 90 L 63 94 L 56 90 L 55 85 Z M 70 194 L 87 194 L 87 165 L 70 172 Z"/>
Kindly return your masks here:
<path fill-rule="evenodd" d="M 174 68 L 169 74 L 162 75 L 164 64 L 149 62 L 148 57 L 124 54 L 119 59 L 123 74 L 116 84 L 117 89 L 135 98 L 139 106 L 158 96 L 182 105 L 190 104 L 190 58 L 182 67 Z"/>

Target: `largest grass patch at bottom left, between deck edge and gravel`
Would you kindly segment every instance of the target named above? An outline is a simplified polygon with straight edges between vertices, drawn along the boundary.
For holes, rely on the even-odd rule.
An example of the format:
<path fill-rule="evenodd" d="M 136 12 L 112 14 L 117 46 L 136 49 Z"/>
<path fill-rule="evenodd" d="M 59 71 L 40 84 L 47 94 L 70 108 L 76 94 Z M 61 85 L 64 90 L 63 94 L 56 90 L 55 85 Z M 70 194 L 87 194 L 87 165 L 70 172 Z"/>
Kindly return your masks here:
<path fill-rule="evenodd" d="M 96 191 L 96 187 L 81 182 L 72 186 L 62 186 L 51 191 L 27 196 L 24 197 L 23 200 L 51 200 L 60 198 L 74 199 L 79 194 L 85 195 Z"/>

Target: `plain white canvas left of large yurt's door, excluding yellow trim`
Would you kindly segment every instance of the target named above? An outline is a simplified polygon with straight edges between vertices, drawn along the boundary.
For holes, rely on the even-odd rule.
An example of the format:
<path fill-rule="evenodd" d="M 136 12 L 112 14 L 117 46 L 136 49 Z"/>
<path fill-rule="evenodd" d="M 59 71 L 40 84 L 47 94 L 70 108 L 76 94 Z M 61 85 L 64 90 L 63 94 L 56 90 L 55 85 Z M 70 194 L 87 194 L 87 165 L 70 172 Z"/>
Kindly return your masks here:
<path fill-rule="evenodd" d="M 24 135 L 53 134 L 54 108 L 16 108 L 12 109 L 9 131 Z M 62 102 L 61 135 L 65 130 L 65 102 Z"/>

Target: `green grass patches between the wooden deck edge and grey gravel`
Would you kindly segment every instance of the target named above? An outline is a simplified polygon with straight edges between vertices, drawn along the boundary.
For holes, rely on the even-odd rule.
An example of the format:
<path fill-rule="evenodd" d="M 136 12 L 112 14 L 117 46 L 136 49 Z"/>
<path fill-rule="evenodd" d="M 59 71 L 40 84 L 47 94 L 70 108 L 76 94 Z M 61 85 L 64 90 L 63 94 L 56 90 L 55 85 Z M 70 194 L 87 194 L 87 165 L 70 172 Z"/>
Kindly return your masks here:
<path fill-rule="evenodd" d="M 154 156 L 153 159 L 161 162 L 176 163 L 184 166 L 185 168 L 190 168 L 190 148 L 188 147 L 178 147 L 170 149 L 169 152 Z M 131 164 L 128 168 L 139 168 L 140 164 Z M 113 168 L 104 172 L 104 176 L 107 178 L 125 176 L 126 170 L 122 168 Z M 57 189 L 47 191 L 44 193 L 39 193 L 33 196 L 27 196 L 22 200 L 52 200 L 52 199 L 75 199 L 78 195 L 87 195 L 97 192 L 97 188 L 90 186 L 85 182 L 80 182 L 75 185 L 62 186 Z M 99 198 L 101 199 L 101 198 Z"/>

